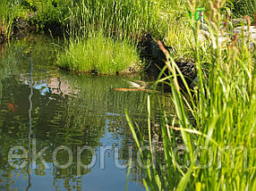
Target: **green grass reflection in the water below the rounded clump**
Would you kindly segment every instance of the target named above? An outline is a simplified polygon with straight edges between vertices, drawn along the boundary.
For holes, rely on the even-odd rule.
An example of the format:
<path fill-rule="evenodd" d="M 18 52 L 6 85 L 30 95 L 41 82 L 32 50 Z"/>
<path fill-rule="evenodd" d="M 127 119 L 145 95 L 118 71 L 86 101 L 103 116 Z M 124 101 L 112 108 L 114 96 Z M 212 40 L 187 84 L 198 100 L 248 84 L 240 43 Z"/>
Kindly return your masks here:
<path fill-rule="evenodd" d="M 47 115 L 47 118 L 51 116 L 48 120 L 51 121 L 51 127 L 58 129 L 55 136 L 63 144 L 82 145 L 84 141 L 90 141 L 90 145 L 97 145 L 99 138 L 103 136 L 107 120 L 111 121 L 109 124 L 111 128 L 120 130 L 124 128 L 127 131 L 124 108 L 132 113 L 134 120 L 141 121 L 141 124 L 145 123 L 142 116 L 145 117 L 143 113 L 146 108 L 142 103 L 145 102 L 147 93 L 114 91 L 113 87 L 127 86 L 120 77 L 92 75 L 63 77 L 62 80 L 71 87 L 76 87 L 79 93 L 64 97 L 58 103 L 59 106 L 53 101 L 50 104 L 51 109 L 48 109 L 50 114 L 41 113 L 41 116 Z M 82 135 L 86 135 L 87 138 L 81 139 Z"/>

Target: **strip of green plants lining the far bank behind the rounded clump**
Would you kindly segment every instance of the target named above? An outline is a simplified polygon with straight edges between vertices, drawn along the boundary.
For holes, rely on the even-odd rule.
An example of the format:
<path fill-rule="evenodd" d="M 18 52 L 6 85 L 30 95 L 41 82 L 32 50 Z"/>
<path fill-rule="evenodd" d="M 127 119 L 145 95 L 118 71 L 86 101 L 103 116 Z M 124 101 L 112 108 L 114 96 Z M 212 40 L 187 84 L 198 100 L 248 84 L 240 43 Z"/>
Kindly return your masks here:
<path fill-rule="evenodd" d="M 233 18 L 248 14 L 254 19 L 256 5 L 253 0 L 222 2 L 225 3 L 224 14 L 232 12 Z M 197 6 L 206 7 L 209 13 L 208 0 L 197 1 Z M 155 38 L 165 38 L 178 57 L 192 53 L 186 0 L 3 0 L 0 12 L 1 41 L 11 37 L 13 28 L 21 27 L 21 21 L 27 21 L 36 29 L 65 33 L 70 37 L 86 37 L 90 31 L 100 30 L 106 37 L 138 42 L 144 34 L 150 33 Z"/>

